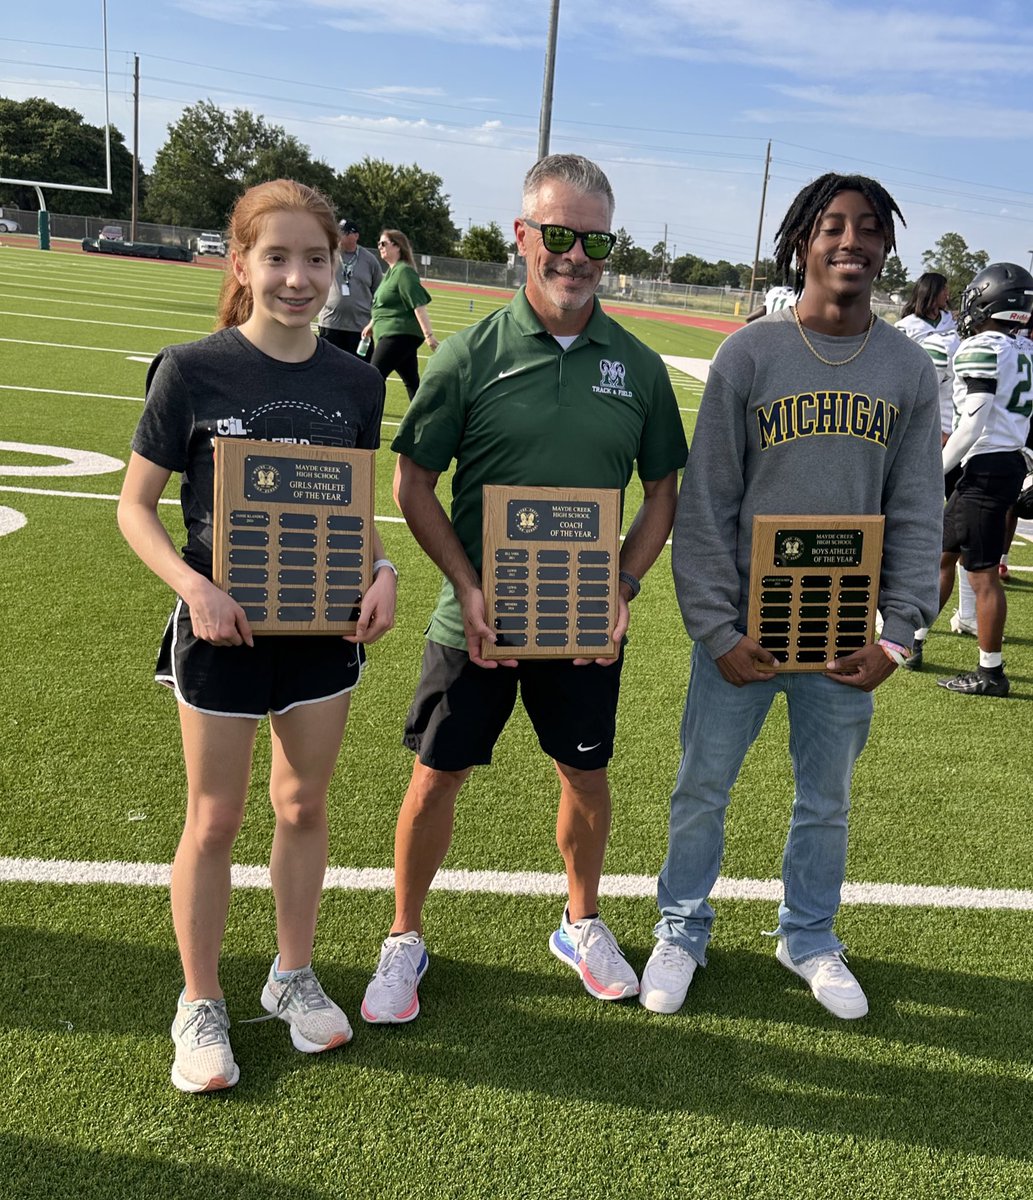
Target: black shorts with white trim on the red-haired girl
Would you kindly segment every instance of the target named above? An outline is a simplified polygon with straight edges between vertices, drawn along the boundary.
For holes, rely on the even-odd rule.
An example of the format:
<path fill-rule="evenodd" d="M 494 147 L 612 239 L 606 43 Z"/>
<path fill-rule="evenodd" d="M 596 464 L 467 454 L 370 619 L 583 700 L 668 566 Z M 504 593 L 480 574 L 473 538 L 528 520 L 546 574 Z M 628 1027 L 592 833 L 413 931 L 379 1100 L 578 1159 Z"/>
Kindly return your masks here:
<path fill-rule="evenodd" d="M 199 713 L 258 719 L 352 691 L 365 660 L 361 646 L 335 636 L 259 634 L 254 646 L 212 646 L 194 637 L 190 608 L 180 600 L 166 626 L 155 680 Z"/>

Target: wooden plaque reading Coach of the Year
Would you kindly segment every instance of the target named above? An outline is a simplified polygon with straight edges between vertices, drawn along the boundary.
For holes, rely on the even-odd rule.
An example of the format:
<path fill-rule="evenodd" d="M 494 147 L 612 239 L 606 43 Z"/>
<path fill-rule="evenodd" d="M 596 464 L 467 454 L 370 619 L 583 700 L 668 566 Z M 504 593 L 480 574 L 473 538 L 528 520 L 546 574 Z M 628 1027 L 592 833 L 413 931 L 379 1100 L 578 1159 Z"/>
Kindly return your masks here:
<path fill-rule="evenodd" d="M 620 492 L 484 490 L 486 659 L 615 658 Z"/>

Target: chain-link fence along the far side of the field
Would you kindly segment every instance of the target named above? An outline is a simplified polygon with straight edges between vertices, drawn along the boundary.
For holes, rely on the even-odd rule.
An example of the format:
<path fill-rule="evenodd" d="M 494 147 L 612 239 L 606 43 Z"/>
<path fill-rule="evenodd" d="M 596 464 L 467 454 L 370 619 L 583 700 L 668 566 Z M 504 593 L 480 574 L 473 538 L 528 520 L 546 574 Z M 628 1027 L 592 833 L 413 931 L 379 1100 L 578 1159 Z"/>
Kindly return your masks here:
<path fill-rule="evenodd" d="M 37 214 L 5 206 L 4 215 L 18 222 L 23 233 L 35 233 Z M 97 238 L 106 226 L 118 226 L 126 241 L 130 240 L 128 221 L 109 221 L 104 217 L 76 217 L 50 214 L 50 236 L 80 241 Z M 137 222 L 137 241 L 160 246 L 197 248 L 197 236 L 203 230 L 181 226 Z M 416 269 L 425 280 L 439 283 L 462 283 L 470 287 L 516 290 L 527 280 L 527 268 L 519 257 L 509 263 L 476 263 L 467 258 L 445 258 L 440 254 L 418 254 Z M 749 288 L 708 288 L 697 283 L 669 283 L 663 280 L 645 280 L 632 275 L 603 275 L 597 294 L 605 300 L 627 301 L 665 308 L 683 308 L 686 312 L 713 313 L 715 317 L 745 317 L 763 304 L 762 290 Z M 900 316 L 900 305 L 873 300 L 872 308 L 887 320 Z"/>

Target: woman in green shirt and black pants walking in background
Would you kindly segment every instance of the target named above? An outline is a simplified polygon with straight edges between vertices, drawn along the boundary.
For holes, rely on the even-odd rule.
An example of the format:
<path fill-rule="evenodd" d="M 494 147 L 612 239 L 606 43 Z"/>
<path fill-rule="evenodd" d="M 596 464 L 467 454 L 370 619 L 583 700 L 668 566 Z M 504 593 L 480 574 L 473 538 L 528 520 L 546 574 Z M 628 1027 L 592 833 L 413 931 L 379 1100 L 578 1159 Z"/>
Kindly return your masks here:
<path fill-rule="evenodd" d="M 385 229 L 377 248 L 388 264 L 388 271 L 373 295 L 373 316 L 362 336 L 373 335 L 376 344 L 371 365 L 385 379 L 397 371 L 412 400 L 420 386 L 416 364 L 420 343 L 426 342 L 432 353 L 438 348 L 427 314 L 431 296 L 420 282 L 413 247 L 401 229 Z"/>

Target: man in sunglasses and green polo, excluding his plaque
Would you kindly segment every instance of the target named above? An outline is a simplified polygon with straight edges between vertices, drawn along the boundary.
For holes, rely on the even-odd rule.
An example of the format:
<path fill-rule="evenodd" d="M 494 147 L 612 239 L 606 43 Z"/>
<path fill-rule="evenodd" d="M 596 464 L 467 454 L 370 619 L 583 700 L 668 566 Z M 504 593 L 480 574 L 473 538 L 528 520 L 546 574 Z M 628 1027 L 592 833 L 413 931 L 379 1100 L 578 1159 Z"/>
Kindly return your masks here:
<path fill-rule="evenodd" d="M 621 646 L 627 605 L 671 532 L 687 451 L 659 355 L 595 300 L 615 240 L 606 176 L 578 155 L 542 158 L 524 180 L 521 211 L 527 286 L 443 342 L 392 443 L 398 504 L 445 578 L 406 722 L 404 744 L 418 757 L 395 834 L 395 920 L 362 1003 L 374 1024 L 410 1021 L 420 1010 L 424 901 L 449 848 L 460 788 L 491 762 L 518 689 L 560 784 L 557 844 L 569 900 L 549 949 L 596 998 L 638 994 L 597 904 L 623 649 L 595 661 L 481 658 L 482 640 L 496 641 L 480 581 L 481 494 L 500 484 L 623 496 L 637 470 L 644 498 L 620 551 L 613 630 Z M 452 462 L 450 518 L 434 488 Z"/>

